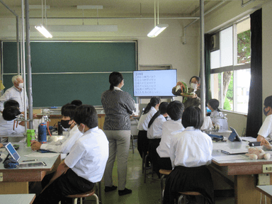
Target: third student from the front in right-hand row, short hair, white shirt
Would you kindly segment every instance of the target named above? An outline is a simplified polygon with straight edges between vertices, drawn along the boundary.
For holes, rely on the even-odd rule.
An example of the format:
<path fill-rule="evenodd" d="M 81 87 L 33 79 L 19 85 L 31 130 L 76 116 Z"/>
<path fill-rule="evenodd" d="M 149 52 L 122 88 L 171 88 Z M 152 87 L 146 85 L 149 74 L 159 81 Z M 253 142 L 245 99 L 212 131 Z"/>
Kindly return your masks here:
<path fill-rule="evenodd" d="M 184 105 L 181 101 L 171 101 L 167 106 L 166 112 L 171 120 L 162 124 L 162 140 L 157 147 L 157 165 L 159 169 L 171 170 L 170 160 L 170 142 L 171 138 L 184 130 L 181 124 L 181 117 L 184 111 Z"/>

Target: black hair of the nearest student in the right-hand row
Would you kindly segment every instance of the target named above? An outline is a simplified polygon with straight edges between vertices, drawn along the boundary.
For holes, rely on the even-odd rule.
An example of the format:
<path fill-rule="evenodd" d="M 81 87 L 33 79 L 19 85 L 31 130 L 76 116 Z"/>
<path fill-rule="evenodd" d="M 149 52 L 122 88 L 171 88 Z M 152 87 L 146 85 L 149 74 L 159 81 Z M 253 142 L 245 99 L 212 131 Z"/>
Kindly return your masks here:
<path fill-rule="evenodd" d="M 198 107 L 189 106 L 182 114 L 181 123 L 184 128 L 193 126 L 193 128 L 200 130 L 203 125 L 203 115 Z"/>

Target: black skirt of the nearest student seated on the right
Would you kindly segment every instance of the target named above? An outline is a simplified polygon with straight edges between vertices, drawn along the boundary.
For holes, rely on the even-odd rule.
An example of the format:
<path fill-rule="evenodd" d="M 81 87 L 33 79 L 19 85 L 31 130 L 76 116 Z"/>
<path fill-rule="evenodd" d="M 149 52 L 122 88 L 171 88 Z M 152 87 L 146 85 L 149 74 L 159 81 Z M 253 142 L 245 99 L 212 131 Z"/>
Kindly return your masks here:
<path fill-rule="evenodd" d="M 176 166 L 166 179 L 163 203 L 174 203 L 179 192 L 186 191 L 197 191 L 204 196 L 207 203 L 215 203 L 212 176 L 207 166 Z"/>

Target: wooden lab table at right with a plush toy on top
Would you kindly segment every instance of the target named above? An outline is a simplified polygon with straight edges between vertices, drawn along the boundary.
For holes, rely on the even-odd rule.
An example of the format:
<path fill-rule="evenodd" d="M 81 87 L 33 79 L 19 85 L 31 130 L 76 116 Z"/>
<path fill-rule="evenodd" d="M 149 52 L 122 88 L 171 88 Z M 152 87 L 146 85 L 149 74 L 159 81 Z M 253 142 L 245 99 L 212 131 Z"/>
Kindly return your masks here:
<path fill-rule="evenodd" d="M 212 151 L 211 167 L 220 171 L 222 175 L 234 176 L 235 203 L 260 203 L 261 193 L 256 189 L 256 176 L 254 174 L 263 174 L 263 164 L 272 164 L 272 158 L 269 160 L 249 160 L 233 159 L 232 156 L 224 154 L 221 149 L 229 147 L 230 149 L 246 149 L 248 142 L 214 142 Z M 272 153 L 272 152 L 271 152 Z M 218 156 L 222 156 L 219 161 Z M 229 160 L 227 159 L 229 157 Z M 266 173 L 271 174 L 271 173 Z M 270 178 L 272 183 L 272 176 Z M 264 203 L 264 199 L 263 203 Z M 268 198 L 268 203 L 271 200 Z"/>

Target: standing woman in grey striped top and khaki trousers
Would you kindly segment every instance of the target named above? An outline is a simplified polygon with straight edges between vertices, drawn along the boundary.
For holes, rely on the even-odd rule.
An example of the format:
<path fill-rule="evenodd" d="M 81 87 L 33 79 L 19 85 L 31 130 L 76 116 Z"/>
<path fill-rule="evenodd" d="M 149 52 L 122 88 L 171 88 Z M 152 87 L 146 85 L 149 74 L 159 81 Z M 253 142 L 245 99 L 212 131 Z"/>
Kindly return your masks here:
<path fill-rule="evenodd" d="M 115 155 L 118 160 L 118 194 L 124 196 L 132 193 L 125 188 L 128 168 L 128 152 L 130 149 L 130 114 L 136 111 L 135 101 L 132 96 L 121 88 L 124 86 L 123 75 L 112 72 L 109 77 L 110 90 L 103 92 L 101 96 L 102 106 L 106 113 L 103 130 L 109 142 L 109 157 L 106 164 L 104 180 L 105 192 L 114 191 L 113 164 Z"/>

